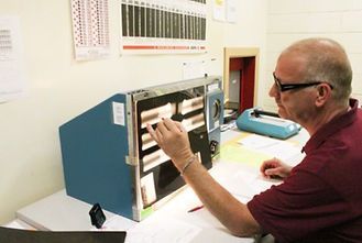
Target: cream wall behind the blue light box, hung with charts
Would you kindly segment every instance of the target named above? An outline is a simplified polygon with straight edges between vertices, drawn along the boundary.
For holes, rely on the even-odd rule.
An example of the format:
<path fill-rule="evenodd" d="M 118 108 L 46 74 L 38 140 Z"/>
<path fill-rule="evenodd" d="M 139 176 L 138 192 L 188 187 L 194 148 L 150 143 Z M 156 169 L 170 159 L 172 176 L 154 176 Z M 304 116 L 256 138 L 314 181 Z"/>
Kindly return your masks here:
<path fill-rule="evenodd" d="M 75 62 L 69 0 L 0 0 L 1 15 L 19 15 L 26 96 L 0 103 L 0 224 L 37 199 L 64 188 L 58 126 L 109 96 L 182 79 L 184 60 L 211 59 L 222 74 L 224 45 L 265 43 L 266 0 L 238 1 L 237 24 L 208 22 L 208 53 L 119 55 L 118 0 L 109 0 L 112 56 Z M 208 2 L 211 15 L 212 1 Z"/>

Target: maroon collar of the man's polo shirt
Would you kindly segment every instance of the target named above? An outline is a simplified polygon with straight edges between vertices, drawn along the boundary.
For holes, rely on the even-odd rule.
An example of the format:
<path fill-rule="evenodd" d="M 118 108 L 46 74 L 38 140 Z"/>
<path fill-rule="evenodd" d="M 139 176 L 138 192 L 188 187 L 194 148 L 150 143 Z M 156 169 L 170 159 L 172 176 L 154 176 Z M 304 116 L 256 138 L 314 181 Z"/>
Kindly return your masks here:
<path fill-rule="evenodd" d="M 306 143 L 301 152 L 308 154 L 310 151 L 317 148 L 322 144 L 330 135 L 336 133 L 336 131 L 341 130 L 342 128 L 351 124 L 356 117 L 356 111 L 359 108 L 359 101 L 355 99 L 350 99 L 350 107 L 345 114 L 339 115 L 330 120 L 327 124 L 321 126 Z"/>

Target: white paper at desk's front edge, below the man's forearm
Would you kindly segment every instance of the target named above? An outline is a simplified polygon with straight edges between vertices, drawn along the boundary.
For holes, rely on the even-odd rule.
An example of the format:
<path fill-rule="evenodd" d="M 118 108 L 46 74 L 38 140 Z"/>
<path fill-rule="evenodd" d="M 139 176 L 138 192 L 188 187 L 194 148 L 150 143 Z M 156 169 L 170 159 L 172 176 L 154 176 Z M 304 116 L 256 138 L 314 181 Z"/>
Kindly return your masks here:
<path fill-rule="evenodd" d="M 151 219 L 151 220 L 149 220 Z M 252 243 L 232 235 L 207 209 L 169 218 L 147 218 L 127 232 L 125 243 Z"/>

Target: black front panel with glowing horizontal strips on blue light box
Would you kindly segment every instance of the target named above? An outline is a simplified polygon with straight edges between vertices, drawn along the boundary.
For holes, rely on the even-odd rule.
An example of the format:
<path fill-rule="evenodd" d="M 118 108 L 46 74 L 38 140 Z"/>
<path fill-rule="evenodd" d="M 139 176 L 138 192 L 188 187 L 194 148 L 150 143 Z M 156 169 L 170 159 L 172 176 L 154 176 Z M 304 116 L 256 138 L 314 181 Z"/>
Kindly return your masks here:
<path fill-rule="evenodd" d="M 202 164 L 211 166 L 205 118 L 204 86 L 180 90 L 136 103 L 141 194 L 144 208 L 185 185 L 169 157 L 156 145 L 146 131 L 146 124 L 156 129 L 162 118 L 182 122 L 188 131 L 194 153 Z"/>

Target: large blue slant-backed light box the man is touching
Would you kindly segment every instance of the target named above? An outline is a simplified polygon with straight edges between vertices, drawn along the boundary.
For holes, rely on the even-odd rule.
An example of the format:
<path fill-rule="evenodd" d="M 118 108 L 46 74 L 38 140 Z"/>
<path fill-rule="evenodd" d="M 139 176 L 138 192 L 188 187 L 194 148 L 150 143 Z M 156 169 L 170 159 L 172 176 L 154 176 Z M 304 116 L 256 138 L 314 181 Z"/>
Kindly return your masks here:
<path fill-rule="evenodd" d="M 206 85 L 216 77 L 117 93 L 59 128 L 67 195 L 141 221 L 185 185 L 147 133 L 162 118 L 182 122 L 207 167 Z"/>

